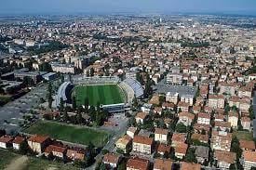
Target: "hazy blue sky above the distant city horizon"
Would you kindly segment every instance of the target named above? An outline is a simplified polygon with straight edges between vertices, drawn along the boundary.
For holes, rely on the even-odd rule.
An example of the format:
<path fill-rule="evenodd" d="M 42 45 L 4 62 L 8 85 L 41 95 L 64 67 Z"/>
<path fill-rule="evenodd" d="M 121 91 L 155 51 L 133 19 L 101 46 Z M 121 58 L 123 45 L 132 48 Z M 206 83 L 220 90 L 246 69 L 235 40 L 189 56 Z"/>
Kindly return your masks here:
<path fill-rule="evenodd" d="M 1 0 L 0 14 L 29 13 L 256 14 L 256 0 Z"/>

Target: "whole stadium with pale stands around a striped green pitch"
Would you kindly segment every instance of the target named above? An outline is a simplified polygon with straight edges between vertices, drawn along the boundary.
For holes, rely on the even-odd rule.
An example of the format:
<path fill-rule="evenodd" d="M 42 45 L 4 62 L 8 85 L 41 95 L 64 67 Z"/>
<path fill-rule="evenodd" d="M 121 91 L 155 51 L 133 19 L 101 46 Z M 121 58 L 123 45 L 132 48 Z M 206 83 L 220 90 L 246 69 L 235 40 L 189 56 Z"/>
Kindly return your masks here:
<path fill-rule="evenodd" d="M 117 76 L 79 76 L 71 82 L 64 82 L 58 89 L 56 105 L 60 106 L 61 98 L 66 104 L 83 106 L 88 98 L 89 106 L 97 106 L 109 112 L 124 112 L 129 109 L 134 97 L 143 96 L 142 85 L 132 78 L 121 81 Z"/>

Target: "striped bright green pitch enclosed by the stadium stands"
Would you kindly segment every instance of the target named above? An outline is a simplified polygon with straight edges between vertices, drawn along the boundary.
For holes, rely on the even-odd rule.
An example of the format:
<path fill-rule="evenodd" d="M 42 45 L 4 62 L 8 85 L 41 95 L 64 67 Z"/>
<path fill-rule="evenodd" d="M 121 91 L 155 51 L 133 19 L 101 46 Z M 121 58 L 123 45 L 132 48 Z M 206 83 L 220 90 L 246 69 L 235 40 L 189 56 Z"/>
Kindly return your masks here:
<path fill-rule="evenodd" d="M 74 88 L 73 95 L 77 105 L 84 105 L 88 98 L 90 106 L 100 104 L 116 104 L 125 102 L 125 96 L 118 85 L 80 85 Z"/>

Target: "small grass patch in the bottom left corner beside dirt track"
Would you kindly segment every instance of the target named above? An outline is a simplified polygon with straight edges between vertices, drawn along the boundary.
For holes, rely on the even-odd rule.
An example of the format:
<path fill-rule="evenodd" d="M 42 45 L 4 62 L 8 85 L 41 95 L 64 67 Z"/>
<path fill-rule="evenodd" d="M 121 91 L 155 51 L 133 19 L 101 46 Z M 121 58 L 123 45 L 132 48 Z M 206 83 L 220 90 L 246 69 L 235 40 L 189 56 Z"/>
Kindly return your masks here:
<path fill-rule="evenodd" d="M 13 159 L 18 158 L 19 155 L 8 150 L 0 150 L 0 169 L 5 169 Z"/>

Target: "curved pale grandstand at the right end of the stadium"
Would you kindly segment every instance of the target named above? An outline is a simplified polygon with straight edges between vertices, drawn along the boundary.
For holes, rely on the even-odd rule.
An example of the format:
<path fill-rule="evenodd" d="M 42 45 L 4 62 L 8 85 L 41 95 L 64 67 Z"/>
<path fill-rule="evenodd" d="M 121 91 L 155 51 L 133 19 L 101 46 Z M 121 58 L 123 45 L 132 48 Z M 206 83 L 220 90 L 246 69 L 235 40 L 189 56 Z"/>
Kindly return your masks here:
<path fill-rule="evenodd" d="M 133 78 L 127 78 L 123 81 L 127 84 L 134 92 L 136 98 L 141 98 L 144 94 L 143 86 Z"/>

